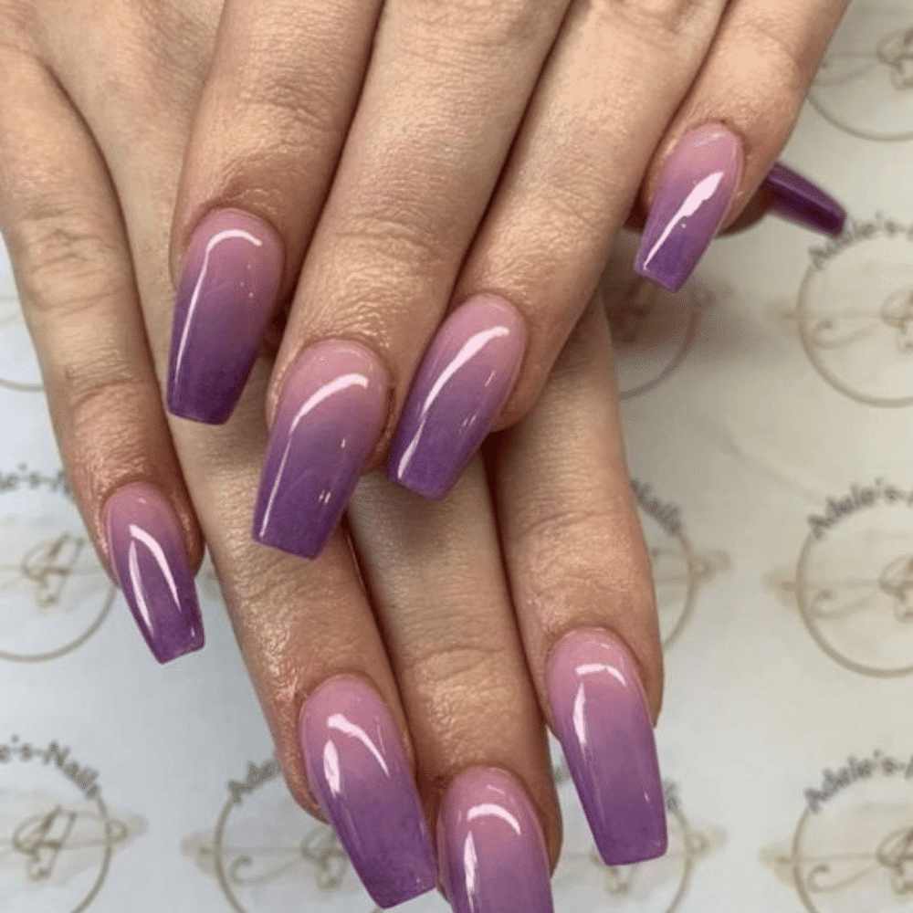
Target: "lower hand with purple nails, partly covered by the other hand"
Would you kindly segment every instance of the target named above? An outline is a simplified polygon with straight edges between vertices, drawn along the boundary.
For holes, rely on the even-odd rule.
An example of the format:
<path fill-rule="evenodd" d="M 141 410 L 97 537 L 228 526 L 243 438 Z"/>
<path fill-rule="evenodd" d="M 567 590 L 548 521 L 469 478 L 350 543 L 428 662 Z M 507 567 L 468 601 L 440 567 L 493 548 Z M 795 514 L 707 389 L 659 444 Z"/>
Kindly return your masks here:
<path fill-rule="evenodd" d="M 318 561 L 261 548 L 248 530 L 270 362 L 218 429 L 169 424 L 157 380 L 174 194 L 218 8 L 92 5 L 110 16 L 97 21 L 69 2 L 16 7 L 40 27 L 12 8 L 0 227 L 80 509 L 155 655 L 203 643 L 205 540 L 289 787 L 384 906 L 433 887 L 438 862 L 458 910 L 551 907 L 561 828 L 543 717 L 605 860 L 661 853 L 661 655 L 601 312 L 448 498 L 375 474 L 352 503 L 354 551 L 347 530 Z"/>

